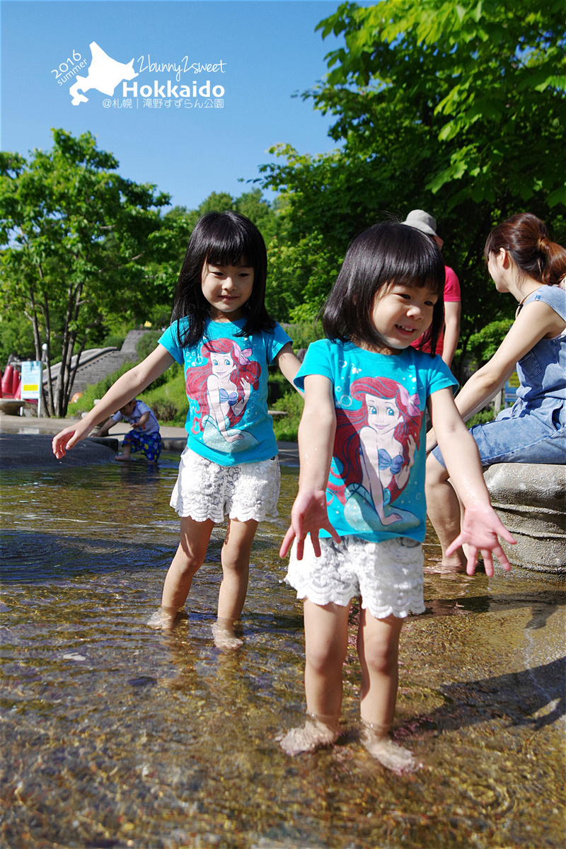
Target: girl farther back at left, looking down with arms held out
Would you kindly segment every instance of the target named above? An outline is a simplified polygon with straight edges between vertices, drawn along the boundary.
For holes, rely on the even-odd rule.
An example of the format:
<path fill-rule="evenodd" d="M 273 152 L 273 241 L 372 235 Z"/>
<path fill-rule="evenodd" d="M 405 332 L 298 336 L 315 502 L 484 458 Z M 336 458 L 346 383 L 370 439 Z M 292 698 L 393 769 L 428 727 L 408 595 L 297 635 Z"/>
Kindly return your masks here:
<path fill-rule="evenodd" d="M 188 445 L 171 506 L 181 541 L 171 562 L 154 627 L 171 627 L 205 560 L 210 533 L 227 516 L 216 645 L 237 648 L 234 633 L 248 588 L 258 523 L 277 515 L 279 464 L 267 412 L 267 367 L 292 381 L 299 368 L 291 340 L 266 312 L 266 246 L 248 218 L 209 212 L 197 222 L 177 282 L 171 326 L 143 363 L 123 374 L 81 420 L 53 438 L 66 451 L 92 427 L 159 377 L 172 363 L 185 371 Z"/>

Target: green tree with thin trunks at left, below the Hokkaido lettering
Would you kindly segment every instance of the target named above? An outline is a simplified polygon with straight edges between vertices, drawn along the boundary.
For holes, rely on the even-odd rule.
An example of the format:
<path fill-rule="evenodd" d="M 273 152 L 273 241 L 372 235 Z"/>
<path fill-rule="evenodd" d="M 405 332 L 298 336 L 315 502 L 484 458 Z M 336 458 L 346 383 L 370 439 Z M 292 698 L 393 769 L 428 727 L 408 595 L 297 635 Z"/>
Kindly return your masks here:
<path fill-rule="evenodd" d="M 117 167 L 89 132 L 54 130 L 53 149 L 34 150 L 29 161 L 0 154 L 0 312 L 23 312 L 36 358 L 45 341 L 48 367 L 60 360 L 56 384 L 48 380 L 52 415 L 66 413 L 71 357 L 78 364 L 104 319 L 132 320 L 163 297 L 144 265 L 169 196 L 120 177 Z"/>

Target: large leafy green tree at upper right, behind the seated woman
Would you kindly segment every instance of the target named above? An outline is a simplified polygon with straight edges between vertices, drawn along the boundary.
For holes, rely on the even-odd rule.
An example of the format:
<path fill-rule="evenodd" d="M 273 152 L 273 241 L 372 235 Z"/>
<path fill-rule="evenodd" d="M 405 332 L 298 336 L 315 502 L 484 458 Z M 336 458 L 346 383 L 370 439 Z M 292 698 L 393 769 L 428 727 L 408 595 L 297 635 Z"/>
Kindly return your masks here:
<path fill-rule="evenodd" d="M 521 14 L 514 0 L 345 3 L 322 20 L 322 37 L 344 47 L 304 97 L 333 115 L 339 149 L 279 146 L 262 169 L 286 199 L 289 248 L 322 239 L 330 271 L 361 229 L 420 207 L 437 218 L 462 280 L 464 345 L 505 318 L 512 305 L 483 265 L 490 228 L 528 208 L 563 230 L 565 21 L 563 0 L 532 0 Z M 307 274 L 305 292 L 317 288 Z"/>

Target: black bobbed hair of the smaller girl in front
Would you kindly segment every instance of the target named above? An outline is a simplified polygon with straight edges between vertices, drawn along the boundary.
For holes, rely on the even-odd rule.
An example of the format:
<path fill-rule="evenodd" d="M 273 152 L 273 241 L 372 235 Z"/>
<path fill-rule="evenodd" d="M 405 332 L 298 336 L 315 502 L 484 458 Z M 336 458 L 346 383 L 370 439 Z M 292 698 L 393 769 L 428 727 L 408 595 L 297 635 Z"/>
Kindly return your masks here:
<path fill-rule="evenodd" d="M 373 301 L 384 286 L 426 287 L 438 295 L 424 335 L 431 351 L 444 323 L 444 260 L 432 239 L 399 222 L 374 224 L 350 245 L 324 306 L 322 327 L 329 339 L 383 345 L 373 323 Z"/>

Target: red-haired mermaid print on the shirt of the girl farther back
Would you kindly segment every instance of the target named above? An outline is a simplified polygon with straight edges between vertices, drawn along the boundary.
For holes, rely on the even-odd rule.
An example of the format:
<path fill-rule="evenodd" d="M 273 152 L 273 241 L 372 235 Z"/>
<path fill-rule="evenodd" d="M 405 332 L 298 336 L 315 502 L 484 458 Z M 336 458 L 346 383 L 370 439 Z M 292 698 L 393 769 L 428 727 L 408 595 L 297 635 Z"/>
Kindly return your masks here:
<path fill-rule="evenodd" d="M 211 407 L 225 410 L 228 426 L 238 424 L 244 415 L 250 388 L 260 384 L 261 366 L 249 359 L 251 348 L 242 348 L 232 339 L 207 340 L 200 348 L 204 365 L 187 369 L 187 395 L 199 402 L 199 416 L 193 420 L 193 432 L 204 430 L 204 419 Z M 215 413 L 216 415 L 216 413 Z"/>

